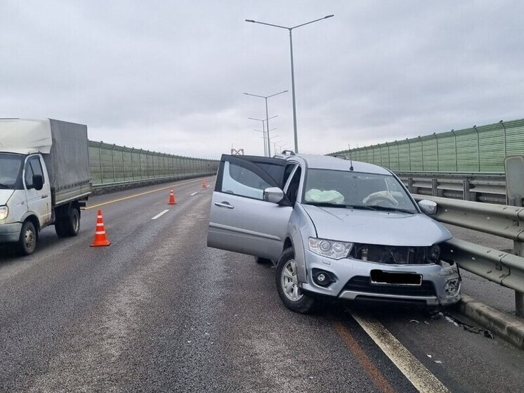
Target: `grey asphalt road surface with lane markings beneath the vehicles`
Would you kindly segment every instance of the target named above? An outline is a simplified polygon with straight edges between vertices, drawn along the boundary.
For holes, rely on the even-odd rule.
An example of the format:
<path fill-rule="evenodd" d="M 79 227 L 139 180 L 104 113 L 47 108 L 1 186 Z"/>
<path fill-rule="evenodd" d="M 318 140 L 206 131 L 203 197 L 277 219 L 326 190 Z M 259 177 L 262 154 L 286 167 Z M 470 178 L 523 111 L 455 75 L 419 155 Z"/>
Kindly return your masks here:
<path fill-rule="evenodd" d="M 272 266 L 206 247 L 211 188 L 174 183 L 172 206 L 169 186 L 91 198 L 77 238 L 46 228 L 29 257 L 0 250 L 1 392 L 522 391 L 524 352 L 445 314 L 287 310 Z M 98 208 L 109 247 L 89 247 Z"/>

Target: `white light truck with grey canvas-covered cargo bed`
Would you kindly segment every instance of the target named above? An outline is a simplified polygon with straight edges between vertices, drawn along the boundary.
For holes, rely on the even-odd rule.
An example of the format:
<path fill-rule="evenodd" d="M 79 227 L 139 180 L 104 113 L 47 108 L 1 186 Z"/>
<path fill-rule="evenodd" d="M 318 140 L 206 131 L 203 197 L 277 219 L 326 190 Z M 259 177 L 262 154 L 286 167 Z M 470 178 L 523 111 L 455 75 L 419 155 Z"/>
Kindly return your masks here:
<path fill-rule="evenodd" d="M 34 252 L 42 228 L 77 236 L 91 194 L 87 127 L 0 119 L 0 243 Z"/>

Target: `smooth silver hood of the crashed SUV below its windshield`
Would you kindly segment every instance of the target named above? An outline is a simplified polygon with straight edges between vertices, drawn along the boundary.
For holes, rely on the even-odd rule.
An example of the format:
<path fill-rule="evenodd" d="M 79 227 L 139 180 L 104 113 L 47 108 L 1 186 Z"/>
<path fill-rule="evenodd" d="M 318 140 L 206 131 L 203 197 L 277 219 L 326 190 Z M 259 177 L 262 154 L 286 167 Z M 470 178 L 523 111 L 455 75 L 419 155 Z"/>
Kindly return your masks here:
<path fill-rule="evenodd" d="M 302 205 L 319 238 L 379 245 L 428 246 L 452 238 L 425 214 Z"/>

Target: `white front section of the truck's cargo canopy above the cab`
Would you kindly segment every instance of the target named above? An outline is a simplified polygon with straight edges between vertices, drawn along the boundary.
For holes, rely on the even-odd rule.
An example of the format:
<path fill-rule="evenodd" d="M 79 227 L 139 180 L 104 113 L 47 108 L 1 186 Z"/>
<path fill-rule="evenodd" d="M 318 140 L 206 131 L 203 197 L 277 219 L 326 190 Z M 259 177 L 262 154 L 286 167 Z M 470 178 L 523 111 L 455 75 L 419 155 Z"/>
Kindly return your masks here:
<path fill-rule="evenodd" d="M 0 151 L 19 154 L 51 152 L 53 138 L 49 119 L 1 119 Z"/>

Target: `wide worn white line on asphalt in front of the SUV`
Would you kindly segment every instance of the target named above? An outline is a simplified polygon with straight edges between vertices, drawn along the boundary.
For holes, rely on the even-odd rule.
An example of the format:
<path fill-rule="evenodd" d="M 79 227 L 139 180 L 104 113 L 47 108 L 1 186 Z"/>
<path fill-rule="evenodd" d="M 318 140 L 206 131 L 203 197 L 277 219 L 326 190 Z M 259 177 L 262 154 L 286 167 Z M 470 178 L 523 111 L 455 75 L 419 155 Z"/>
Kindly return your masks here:
<path fill-rule="evenodd" d="M 395 336 L 374 318 L 350 314 L 419 392 L 450 392 Z"/>

